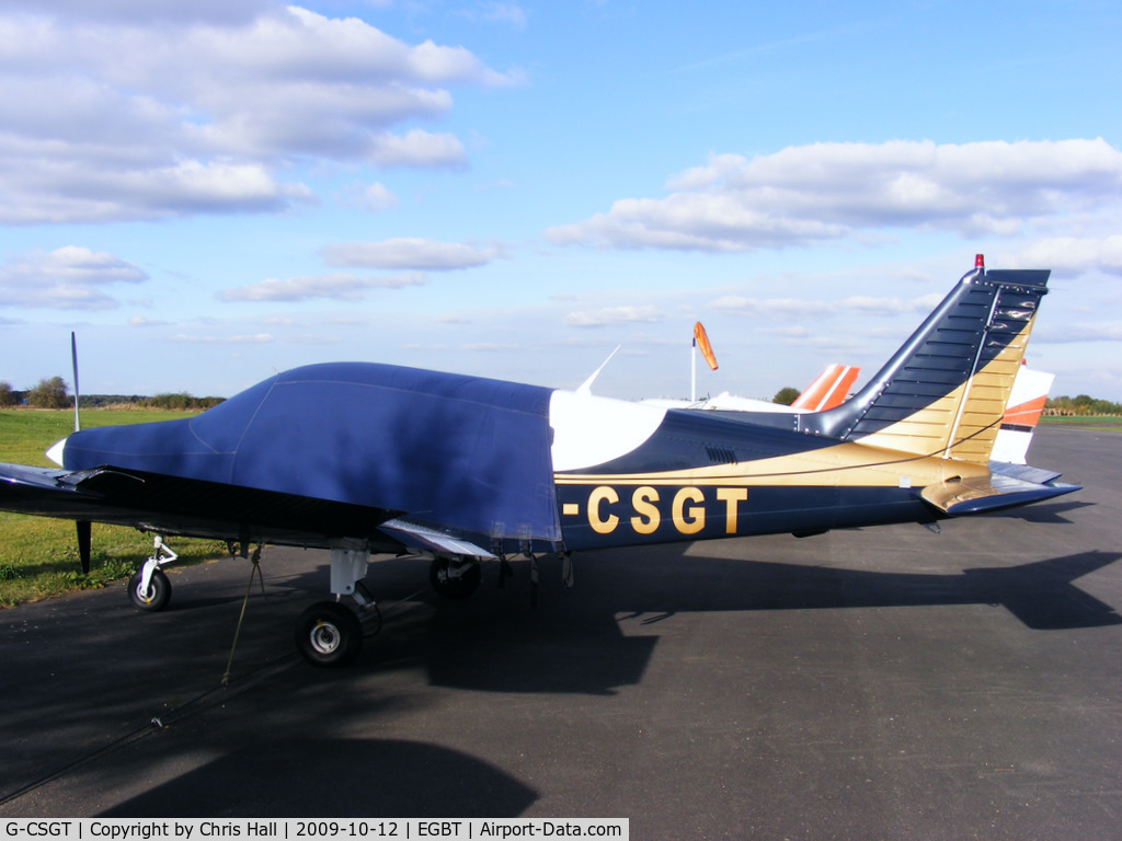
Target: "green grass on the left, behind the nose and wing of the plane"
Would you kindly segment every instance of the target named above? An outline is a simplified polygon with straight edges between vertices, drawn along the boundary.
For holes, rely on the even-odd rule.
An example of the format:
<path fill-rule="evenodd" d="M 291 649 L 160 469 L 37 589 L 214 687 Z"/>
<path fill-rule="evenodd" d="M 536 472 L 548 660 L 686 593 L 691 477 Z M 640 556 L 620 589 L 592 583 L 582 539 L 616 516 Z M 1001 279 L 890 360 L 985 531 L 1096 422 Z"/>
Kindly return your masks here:
<path fill-rule="evenodd" d="M 92 409 L 82 413 L 82 425 L 172 420 L 190 414 Z M 44 452 L 73 428 L 74 413 L 68 409 L 2 410 L 0 462 L 54 466 Z M 226 554 L 226 545 L 214 540 L 177 538 L 173 548 L 182 562 Z M 150 554 L 150 535 L 95 523 L 90 573 L 83 575 L 73 523 L 0 511 L 0 608 L 127 580 Z"/>

